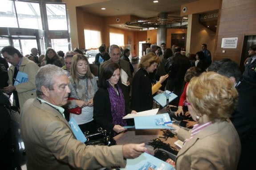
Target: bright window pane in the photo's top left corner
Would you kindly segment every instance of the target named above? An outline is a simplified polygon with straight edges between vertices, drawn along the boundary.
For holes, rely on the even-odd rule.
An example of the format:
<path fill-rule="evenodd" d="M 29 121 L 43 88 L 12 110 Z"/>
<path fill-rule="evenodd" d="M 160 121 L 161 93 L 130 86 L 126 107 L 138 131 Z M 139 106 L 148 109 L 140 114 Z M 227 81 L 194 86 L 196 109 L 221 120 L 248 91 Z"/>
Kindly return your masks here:
<path fill-rule="evenodd" d="M 18 28 L 13 1 L 1 0 L 0 27 Z"/>

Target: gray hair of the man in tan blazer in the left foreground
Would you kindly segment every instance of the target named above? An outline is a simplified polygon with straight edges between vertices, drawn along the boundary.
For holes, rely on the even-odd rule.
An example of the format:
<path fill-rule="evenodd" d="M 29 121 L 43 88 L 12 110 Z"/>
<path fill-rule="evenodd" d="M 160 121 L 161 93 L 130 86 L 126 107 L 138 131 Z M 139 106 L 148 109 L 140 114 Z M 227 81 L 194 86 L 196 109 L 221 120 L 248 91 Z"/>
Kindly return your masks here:
<path fill-rule="evenodd" d="M 57 67 L 52 64 L 46 64 L 43 67 L 40 67 L 36 75 L 36 92 L 37 96 L 41 97 L 44 93 L 41 90 L 42 86 L 53 90 L 53 78 L 61 75 L 67 75 L 67 72 L 61 67 Z"/>

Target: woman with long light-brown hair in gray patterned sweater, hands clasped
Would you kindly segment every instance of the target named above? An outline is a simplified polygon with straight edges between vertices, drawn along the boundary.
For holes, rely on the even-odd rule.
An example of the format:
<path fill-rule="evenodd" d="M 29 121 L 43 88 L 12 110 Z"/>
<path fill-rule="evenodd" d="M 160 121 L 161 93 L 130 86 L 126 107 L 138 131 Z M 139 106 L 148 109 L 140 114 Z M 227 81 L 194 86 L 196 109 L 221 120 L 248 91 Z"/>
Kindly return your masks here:
<path fill-rule="evenodd" d="M 70 113 L 69 118 L 74 118 L 82 130 L 89 134 L 96 133 L 99 125 L 93 120 L 93 97 L 98 90 L 95 76 L 91 73 L 88 59 L 81 54 L 72 57 L 72 66 L 69 76 L 70 97 L 69 108 L 81 107 L 81 115 Z"/>

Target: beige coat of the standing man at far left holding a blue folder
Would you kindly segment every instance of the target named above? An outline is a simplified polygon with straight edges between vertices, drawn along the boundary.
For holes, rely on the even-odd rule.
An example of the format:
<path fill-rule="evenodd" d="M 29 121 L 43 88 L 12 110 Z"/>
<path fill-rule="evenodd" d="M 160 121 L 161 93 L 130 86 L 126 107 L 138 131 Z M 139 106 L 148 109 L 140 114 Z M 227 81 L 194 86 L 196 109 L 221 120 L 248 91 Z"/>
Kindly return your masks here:
<path fill-rule="evenodd" d="M 29 60 L 27 57 L 22 57 L 22 62 L 19 67 L 19 71 L 25 72 L 28 74 L 28 82 L 20 83 L 15 86 L 16 91 L 18 92 L 18 98 L 20 103 L 20 109 L 23 107 L 27 99 L 36 98 L 36 74 L 39 69 L 36 63 Z M 8 85 L 12 86 L 12 78 L 14 73 L 14 66 L 11 65 L 8 70 Z M 13 102 L 15 103 L 15 102 Z"/>

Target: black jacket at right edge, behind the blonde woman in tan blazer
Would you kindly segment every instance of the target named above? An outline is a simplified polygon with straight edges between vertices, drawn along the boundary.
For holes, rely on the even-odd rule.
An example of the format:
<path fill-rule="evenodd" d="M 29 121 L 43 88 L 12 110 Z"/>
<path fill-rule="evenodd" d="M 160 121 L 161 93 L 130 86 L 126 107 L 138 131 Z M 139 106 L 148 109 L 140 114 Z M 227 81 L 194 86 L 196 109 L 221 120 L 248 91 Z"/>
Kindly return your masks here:
<path fill-rule="evenodd" d="M 230 119 L 242 146 L 238 170 L 252 170 L 256 165 L 256 85 L 241 81 L 236 89 L 239 93 L 238 105 Z"/>

